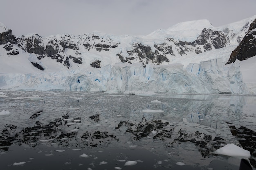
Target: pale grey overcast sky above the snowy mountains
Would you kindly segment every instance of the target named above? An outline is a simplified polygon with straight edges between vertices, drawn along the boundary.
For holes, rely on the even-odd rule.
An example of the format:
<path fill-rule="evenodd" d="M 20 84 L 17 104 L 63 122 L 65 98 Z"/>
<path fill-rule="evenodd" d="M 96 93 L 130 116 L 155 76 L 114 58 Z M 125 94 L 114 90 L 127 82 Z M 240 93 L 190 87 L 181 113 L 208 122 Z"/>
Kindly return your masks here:
<path fill-rule="evenodd" d="M 256 15 L 256 0 L 0 0 L 0 22 L 13 34 L 148 35 L 179 22 L 222 26 Z"/>

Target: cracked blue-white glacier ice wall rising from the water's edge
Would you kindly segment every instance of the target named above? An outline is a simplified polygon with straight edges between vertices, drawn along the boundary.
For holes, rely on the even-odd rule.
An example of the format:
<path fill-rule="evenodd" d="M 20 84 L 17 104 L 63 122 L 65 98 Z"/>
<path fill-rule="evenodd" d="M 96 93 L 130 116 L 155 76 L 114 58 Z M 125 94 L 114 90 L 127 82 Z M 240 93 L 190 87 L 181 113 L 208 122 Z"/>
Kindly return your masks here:
<path fill-rule="evenodd" d="M 45 74 L 2 74 L 0 89 L 196 94 L 247 93 L 239 63 L 225 68 L 222 59 L 164 66 L 141 63 Z"/>

